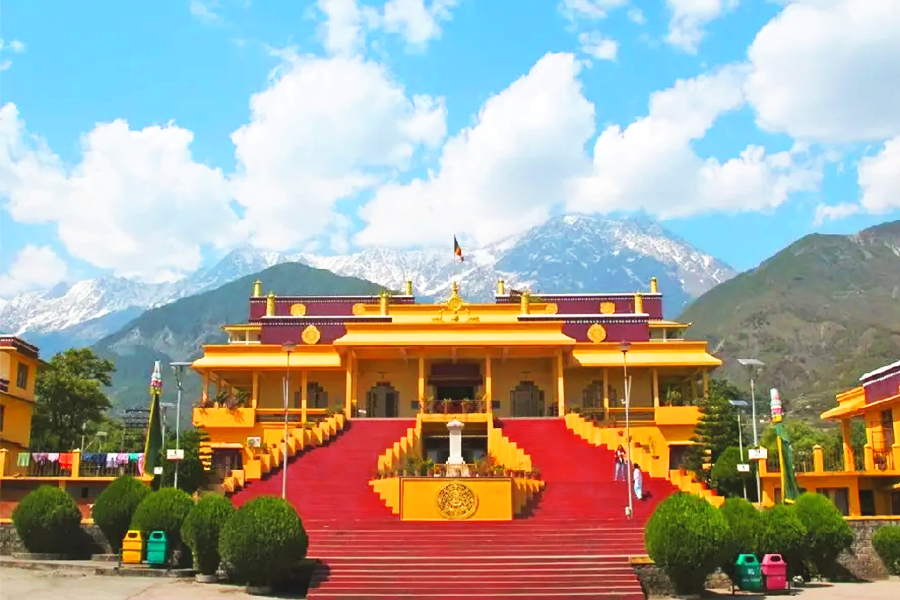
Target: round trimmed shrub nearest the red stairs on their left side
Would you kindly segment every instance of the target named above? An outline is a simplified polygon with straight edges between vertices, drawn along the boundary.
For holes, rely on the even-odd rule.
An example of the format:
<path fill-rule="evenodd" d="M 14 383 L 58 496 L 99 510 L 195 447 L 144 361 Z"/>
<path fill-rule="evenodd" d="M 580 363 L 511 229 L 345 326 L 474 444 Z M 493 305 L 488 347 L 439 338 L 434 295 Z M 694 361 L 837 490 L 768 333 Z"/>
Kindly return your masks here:
<path fill-rule="evenodd" d="M 297 511 L 273 496 L 247 502 L 219 536 L 219 554 L 229 575 L 249 585 L 276 585 L 289 578 L 308 546 Z"/>

